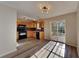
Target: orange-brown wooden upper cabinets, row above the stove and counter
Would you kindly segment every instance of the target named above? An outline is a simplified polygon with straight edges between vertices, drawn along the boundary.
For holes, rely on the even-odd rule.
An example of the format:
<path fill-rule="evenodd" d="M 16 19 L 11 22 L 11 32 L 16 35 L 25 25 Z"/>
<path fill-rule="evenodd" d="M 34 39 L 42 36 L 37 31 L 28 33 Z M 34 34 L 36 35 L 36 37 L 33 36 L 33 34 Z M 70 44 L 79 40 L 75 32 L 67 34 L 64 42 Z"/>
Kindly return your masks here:
<path fill-rule="evenodd" d="M 44 30 L 44 20 L 33 21 L 33 20 L 18 19 L 17 25 L 19 24 L 26 25 L 28 29 Z"/>

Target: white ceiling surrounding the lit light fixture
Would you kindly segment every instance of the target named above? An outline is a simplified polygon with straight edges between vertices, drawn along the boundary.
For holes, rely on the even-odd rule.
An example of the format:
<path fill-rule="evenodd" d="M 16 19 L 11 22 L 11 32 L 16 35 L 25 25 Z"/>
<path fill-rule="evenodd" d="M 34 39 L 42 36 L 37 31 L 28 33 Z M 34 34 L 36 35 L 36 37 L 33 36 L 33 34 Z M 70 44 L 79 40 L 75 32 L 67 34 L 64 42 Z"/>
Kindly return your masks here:
<path fill-rule="evenodd" d="M 39 4 L 48 3 L 51 8 L 48 15 L 43 16 Z M 4 1 L 0 4 L 15 8 L 18 17 L 28 16 L 31 18 L 49 18 L 75 12 L 77 10 L 77 1 Z"/>

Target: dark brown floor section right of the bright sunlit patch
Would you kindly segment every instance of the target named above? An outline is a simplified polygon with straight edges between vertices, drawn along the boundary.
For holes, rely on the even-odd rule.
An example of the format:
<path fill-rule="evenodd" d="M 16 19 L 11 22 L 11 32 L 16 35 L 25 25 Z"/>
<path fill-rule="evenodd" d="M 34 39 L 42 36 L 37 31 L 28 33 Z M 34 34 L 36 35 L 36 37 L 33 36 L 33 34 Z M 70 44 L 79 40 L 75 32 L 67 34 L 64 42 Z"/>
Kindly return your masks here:
<path fill-rule="evenodd" d="M 78 58 L 77 48 L 70 45 L 66 45 L 65 58 Z"/>

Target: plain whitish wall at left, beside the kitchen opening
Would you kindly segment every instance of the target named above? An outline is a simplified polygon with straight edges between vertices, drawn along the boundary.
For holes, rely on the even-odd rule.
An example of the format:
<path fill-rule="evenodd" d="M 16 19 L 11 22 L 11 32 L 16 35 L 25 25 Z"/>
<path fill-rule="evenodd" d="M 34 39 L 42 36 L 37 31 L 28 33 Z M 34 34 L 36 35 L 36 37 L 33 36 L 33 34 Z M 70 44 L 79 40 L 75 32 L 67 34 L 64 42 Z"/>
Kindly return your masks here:
<path fill-rule="evenodd" d="M 16 10 L 0 5 L 0 57 L 16 50 Z"/>

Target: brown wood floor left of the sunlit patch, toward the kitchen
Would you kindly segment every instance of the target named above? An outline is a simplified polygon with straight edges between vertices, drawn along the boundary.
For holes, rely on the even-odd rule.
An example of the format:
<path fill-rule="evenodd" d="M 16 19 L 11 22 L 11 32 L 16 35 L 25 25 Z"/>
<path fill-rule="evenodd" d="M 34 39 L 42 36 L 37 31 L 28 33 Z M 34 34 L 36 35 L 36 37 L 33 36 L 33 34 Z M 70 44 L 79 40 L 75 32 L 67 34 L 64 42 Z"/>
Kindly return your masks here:
<path fill-rule="evenodd" d="M 19 41 L 17 50 L 2 58 L 28 58 L 41 49 L 48 41 L 41 42 L 40 40 L 21 40 Z"/>

